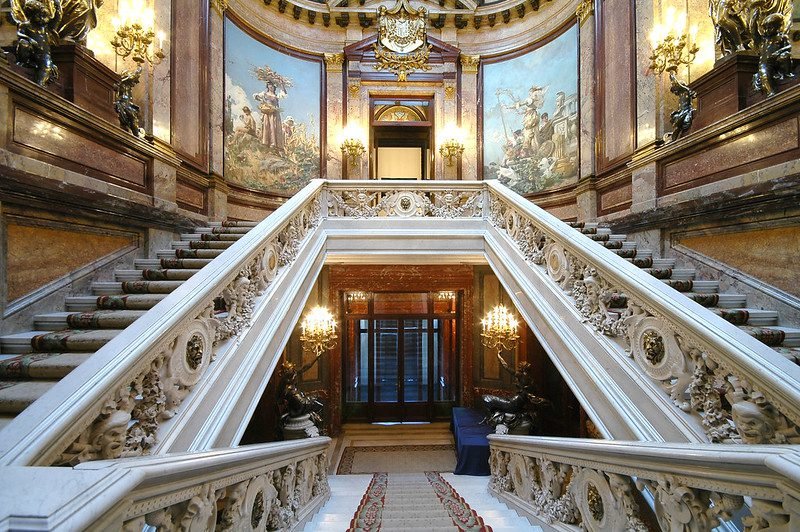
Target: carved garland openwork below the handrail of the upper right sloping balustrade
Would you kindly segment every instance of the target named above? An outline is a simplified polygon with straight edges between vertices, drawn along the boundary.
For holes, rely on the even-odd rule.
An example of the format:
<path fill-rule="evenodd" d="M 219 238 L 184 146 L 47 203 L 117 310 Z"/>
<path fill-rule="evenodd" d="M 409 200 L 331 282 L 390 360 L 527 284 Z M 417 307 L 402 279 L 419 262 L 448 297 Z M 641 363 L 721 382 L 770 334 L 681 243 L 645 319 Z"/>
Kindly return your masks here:
<path fill-rule="evenodd" d="M 766 397 L 767 390 L 756 390 L 724 368 L 721 357 L 695 345 L 663 316 L 625 295 L 595 267 L 494 195 L 489 222 L 572 296 L 584 322 L 601 334 L 622 339 L 629 355 L 660 383 L 676 407 L 699 415 L 711 442 L 800 443 L 797 420 L 781 412 Z"/>

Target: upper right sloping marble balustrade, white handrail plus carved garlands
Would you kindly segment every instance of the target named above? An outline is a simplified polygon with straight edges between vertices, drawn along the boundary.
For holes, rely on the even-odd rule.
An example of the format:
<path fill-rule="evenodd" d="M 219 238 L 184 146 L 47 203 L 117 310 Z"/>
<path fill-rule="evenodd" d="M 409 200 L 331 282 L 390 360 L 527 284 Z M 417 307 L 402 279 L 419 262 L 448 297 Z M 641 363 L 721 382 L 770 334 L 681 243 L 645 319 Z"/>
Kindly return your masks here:
<path fill-rule="evenodd" d="M 699 415 L 710 441 L 800 443 L 797 365 L 503 185 L 486 186 L 489 224 L 676 407 Z"/>

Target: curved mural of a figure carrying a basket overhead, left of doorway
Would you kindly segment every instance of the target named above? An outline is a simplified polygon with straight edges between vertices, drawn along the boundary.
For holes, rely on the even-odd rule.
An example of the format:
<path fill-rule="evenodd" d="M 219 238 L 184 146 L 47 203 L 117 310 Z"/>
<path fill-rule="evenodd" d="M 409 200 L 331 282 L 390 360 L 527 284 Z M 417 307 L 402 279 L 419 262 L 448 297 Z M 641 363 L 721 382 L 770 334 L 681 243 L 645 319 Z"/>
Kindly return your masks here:
<path fill-rule="evenodd" d="M 226 181 L 286 196 L 319 177 L 321 76 L 225 20 Z"/>

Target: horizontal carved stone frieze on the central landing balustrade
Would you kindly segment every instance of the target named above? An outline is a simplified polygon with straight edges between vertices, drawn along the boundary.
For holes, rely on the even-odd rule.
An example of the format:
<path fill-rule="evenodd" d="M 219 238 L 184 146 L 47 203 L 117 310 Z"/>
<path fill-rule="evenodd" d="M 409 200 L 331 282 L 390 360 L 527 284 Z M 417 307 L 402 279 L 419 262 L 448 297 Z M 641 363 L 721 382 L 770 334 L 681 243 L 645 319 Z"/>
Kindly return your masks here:
<path fill-rule="evenodd" d="M 481 191 L 412 190 L 368 191 L 365 188 L 328 190 L 328 216 L 375 218 L 379 216 L 412 218 L 473 218 L 483 214 Z"/>

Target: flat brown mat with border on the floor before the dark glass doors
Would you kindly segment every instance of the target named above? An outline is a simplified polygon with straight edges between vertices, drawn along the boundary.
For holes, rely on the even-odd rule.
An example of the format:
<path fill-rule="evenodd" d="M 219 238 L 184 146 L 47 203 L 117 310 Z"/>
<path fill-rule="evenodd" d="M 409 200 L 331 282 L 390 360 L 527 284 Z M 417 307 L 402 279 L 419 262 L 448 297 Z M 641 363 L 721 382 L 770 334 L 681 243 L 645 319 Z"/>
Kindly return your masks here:
<path fill-rule="evenodd" d="M 455 466 L 452 444 L 353 446 L 345 448 L 336 474 L 442 472 Z"/>

